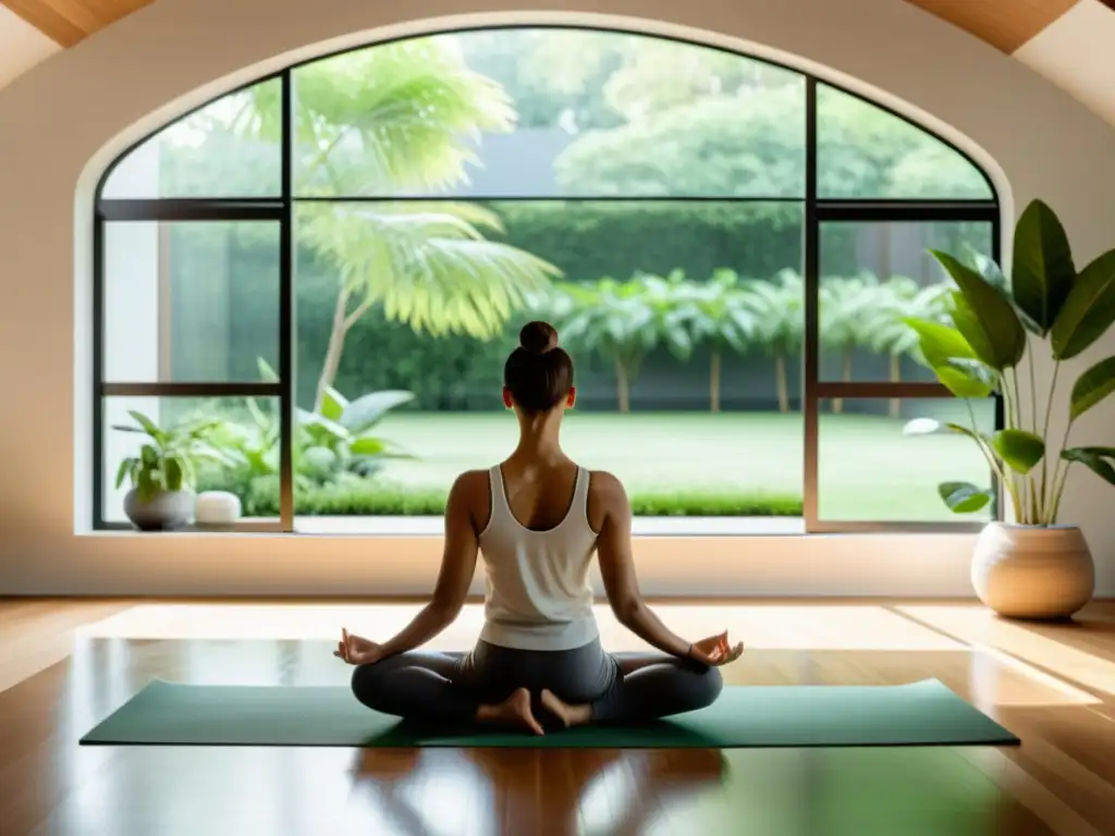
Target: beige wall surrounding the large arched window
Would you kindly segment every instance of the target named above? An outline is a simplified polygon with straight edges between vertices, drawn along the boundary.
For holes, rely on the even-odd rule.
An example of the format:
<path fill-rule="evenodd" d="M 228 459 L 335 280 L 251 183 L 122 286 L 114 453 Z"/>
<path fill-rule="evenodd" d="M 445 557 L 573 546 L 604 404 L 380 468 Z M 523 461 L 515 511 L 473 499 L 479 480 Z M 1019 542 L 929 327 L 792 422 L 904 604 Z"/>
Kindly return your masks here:
<path fill-rule="evenodd" d="M 471 6 L 493 12 L 492 20 L 507 19 L 504 8 L 532 7 L 570 10 L 540 20 L 647 18 L 628 26 L 682 35 L 688 28 L 697 39 L 769 51 L 898 106 L 969 148 L 993 172 L 1008 212 L 1045 197 L 1079 257 L 1115 244 L 1112 127 L 991 47 L 905 3 Z M 434 21 L 457 10 L 452 0 L 161 0 L 0 91 L 0 592 L 429 589 L 439 554 L 434 538 L 75 535 L 75 527 L 88 518 L 90 216 L 105 165 L 184 108 L 264 70 L 423 28 L 405 18 L 426 19 L 426 28 L 460 23 Z M 1104 349 L 1085 361 L 1112 353 L 1115 334 Z M 1039 377 L 1049 371 L 1043 366 Z M 1094 410 L 1079 439 L 1102 443 L 1099 430 L 1113 418 L 1115 404 Z M 1115 492 L 1078 473 L 1066 505 L 1096 553 L 1101 590 L 1115 593 Z M 658 538 L 640 541 L 637 556 L 644 587 L 660 594 L 946 595 L 968 594 L 970 548 L 967 536 Z"/>

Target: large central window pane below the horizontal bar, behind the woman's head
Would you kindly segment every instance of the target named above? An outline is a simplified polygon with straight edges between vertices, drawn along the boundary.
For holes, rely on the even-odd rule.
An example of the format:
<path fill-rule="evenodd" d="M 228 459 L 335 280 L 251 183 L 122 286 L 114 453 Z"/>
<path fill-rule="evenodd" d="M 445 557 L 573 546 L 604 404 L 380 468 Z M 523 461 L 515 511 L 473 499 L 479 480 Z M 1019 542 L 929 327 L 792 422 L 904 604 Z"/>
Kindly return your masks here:
<path fill-rule="evenodd" d="M 568 449 L 624 479 L 637 514 L 799 515 L 801 243 L 797 204 L 300 206 L 299 405 L 313 408 L 326 383 L 349 401 L 414 397 L 370 429 L 413 458 L 368 469 L 314 453 L 328 465 L 317 469 L 307 456 L 313 486 L 297 493 L 297 512 L 440 513 L 457 474 L 513 445 L 503 363 L 523 322 L 541 317 L 576 361 Z M 348 328 L 334 324 L 342 292 L 350 315 L 365 293 L 372 301 Z M 688 354 L 671 351 L 675 327 L 695 341 Z"/>

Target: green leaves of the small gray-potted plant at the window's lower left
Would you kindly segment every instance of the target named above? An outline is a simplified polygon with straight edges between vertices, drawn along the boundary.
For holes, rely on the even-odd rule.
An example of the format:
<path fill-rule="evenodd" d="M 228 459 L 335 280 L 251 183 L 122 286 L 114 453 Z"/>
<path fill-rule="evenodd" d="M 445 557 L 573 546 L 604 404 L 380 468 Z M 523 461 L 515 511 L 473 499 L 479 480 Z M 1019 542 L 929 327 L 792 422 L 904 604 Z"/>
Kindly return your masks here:
<path fill-rule="evenodd" d="M 148 500 L 163 492 L 176 492 L 194 484 L 197 466 L 203 461 L 227 464 L 227 459 L 210 441 L 216 421 L 188 421 L 161 428 L 135 409 L 128 415 L 135 425 L 114 425 L 120 432 L 147 436 L 138 456 L 120 461 L 116 487 L 128 479 L 136 495 Z"/>

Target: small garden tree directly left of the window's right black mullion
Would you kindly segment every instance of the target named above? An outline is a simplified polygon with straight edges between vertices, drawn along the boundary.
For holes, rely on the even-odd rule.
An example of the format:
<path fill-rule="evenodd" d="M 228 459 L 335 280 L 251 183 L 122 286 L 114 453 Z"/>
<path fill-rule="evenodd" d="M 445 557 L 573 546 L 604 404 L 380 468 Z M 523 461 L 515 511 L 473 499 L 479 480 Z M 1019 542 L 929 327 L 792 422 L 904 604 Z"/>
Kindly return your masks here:
<path fill-rule="evenodd" d="M 774 358 L 778 410 L 789 411 L 786 359 L 799 354 L 805 333 L 805 283 L 793 270 L 774 281 L 752 280 L 744 285 L 741 304 L 755 317 L 755 338 Z"/>

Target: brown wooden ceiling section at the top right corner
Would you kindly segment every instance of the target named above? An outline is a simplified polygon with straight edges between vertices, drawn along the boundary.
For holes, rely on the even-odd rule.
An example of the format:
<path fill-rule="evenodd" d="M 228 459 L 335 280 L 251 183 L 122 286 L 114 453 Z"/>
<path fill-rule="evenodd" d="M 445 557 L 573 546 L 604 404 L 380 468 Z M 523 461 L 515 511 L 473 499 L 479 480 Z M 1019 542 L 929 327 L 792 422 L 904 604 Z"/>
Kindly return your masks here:
<path fill-rule="evenodd" d="M 906 0 L 906 2 L 964 29 L 1007 55 L 1012 55 L 1020 46 L 1076 6 L 1076 0 Z"/>

